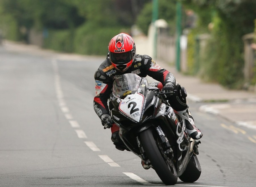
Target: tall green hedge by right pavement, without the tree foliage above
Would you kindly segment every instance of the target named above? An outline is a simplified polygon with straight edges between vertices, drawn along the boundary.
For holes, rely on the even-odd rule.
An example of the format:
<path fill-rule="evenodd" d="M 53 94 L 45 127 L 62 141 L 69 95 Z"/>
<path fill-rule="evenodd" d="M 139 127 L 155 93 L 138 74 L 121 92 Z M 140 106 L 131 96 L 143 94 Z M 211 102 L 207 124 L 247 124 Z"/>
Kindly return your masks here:
<path fill-rule="evenodd" d="M 213 31 L 204 57 L 203 76 L 222 85 L 240 89 L 243 85 L 243 41 L 239 25 L 221 19 L 213 19 Z"/>

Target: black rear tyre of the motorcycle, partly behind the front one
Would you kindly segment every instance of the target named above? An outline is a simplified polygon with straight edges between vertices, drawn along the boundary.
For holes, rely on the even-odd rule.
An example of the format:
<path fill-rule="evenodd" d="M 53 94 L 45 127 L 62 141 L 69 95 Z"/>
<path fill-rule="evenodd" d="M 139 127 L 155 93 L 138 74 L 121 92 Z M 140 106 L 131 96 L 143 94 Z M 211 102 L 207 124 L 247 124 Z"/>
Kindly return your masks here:
<path fill-rule="evenodd" d="M 179 176 L 183 182 L 195 182 L 201 175 L 201 166 L 196 155 L 192 155 L 186 170 Z"/>

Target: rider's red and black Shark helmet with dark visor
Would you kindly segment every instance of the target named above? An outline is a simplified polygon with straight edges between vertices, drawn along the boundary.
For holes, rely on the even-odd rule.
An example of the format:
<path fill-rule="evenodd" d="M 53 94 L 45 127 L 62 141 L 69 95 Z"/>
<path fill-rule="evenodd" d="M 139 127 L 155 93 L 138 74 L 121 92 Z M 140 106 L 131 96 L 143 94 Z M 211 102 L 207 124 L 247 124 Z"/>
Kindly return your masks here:
<path fill-rule="evenodd" d="M 136 48 L 133 38 L 125 33 L 114 36 L 109 42 L 108 52 L 114 68 L 125 72 L 135 59 Z"/>

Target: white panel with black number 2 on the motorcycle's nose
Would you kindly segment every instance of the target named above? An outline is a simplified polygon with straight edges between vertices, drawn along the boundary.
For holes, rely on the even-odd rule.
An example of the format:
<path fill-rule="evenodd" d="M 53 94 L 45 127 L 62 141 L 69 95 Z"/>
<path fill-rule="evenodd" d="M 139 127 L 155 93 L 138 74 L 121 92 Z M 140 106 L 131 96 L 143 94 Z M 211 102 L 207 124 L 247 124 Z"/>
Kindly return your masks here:
<path fill-rule="evenodd" d="M 129 96 L 132 96 L 132 98 L 129 100 L 121 100 L 119 110 L 131 119 L 140 122 L 144 95 L 136 92 L 134 95 Z"/>

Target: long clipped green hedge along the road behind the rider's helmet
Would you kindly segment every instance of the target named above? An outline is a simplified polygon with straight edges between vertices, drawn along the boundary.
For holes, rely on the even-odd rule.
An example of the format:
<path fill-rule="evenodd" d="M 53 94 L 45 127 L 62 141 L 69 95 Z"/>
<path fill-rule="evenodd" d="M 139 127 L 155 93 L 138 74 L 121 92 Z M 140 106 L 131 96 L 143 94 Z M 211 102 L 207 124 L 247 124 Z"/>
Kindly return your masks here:
<path fill-rule="evenodd" d="M 123 28 L 98 28 L 93 23 L 87 23 L 75 30 L 49 30 L 44 39 L 44 48 L 84 55 L 106 55 L 108 43 Z"/>

